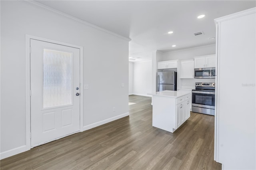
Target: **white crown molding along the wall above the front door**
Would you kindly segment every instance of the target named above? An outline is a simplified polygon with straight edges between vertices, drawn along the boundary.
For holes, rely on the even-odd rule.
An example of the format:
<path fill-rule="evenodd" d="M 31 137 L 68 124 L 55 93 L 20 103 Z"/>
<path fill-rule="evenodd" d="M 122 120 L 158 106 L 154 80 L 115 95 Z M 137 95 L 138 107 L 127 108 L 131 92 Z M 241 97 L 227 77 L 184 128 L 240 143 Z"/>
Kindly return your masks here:
<path fill-rule="evenodd" d="M 30 4 L 32 4 L 32 5 L 34 5 L 34 6 L 39 6 L 39 7 L 41 7 L 41 8 L 46 9 L 46 10 L 52 11 L 52 12 L 54 12 L 54 13 L 56 13 L 56 14 L 59 14 L 59 15 L 65 16 L 65 17 L 67 17 L 67 18 L 70 18 L 70 19 L 72 19 L 72 20 L 75 20 L 75 21 L 77 21 L 77 22 L 80 22 L 80 23 L 82 23 L 82 24 L 84 24 L 84 25 L 86 25 L 86 26 L 90 26 L 90 27 L 96 28 L 96 29 L 101 30 L 101 31 L 103 31 L 103 32 L 106 32 L 106 33 L 108 33 L 108 34 L 112 34 L 112 35 L 114 35 L 114 36 L 116 36 L 116 37 L 122 38 L 122 39 L 124 39 L 124 40 L 126 40 L 126 41 L 131 41 L 130 38 L 127 38 L 127 37 L 124 37 L 124 36 L 120 36 L 119 34 L 116 34 L 116 33 L 114 33 L 114 32 L 111 32 L 111 31 L 109 31 L 109 30 L 106 30 L 106 29 L 104 29 L 104 28 L 101 28 L 101 27 L 96 26 L 96 25 L 94 25 L 94 24 L 91 24 L 90 22 L 86 22 L 86 21 L 84 21 L 84 20 L 78 19 L 78 18 L 76 18 L 76 17 L 74 17 L 74 16 L 71 16 L 71 15 L 66 14 L 66 13 L 64 13 L 64 12 L 61 12 L 61 11 L 59 11 L 59 10 L 56 10 L 56 9 L 51 8 L 51 7 L 49 7 L 49 6 L 46 6 L 46 5 L 44 5 L 44 4 L 40 4 L 39 2 L 36 2 L 36 1 L 34 1 L 34 0 L 20 0 L 20 1 L 30 3 Z"/>

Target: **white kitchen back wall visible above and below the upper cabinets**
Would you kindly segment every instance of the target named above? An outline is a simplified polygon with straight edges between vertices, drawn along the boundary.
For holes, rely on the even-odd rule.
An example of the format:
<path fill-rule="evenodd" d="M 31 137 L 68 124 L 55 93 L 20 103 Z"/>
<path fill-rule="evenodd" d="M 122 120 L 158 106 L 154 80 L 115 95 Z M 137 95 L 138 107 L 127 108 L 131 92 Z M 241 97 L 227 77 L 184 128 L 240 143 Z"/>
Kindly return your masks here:
<path fill-rule="evenodd" d="M 200 55 L 210 55 L 215 54 L 216 45 L 205 45 L 200 47 L 188 48 L 188 49 L 181 49 L 176 51 L 170 51 L 167 53 L 163 53 L 162 61 L 166 60 L 186 60 L 186 59 L 194 59 L 196 56 Z M 210 82 L 214 83 L 215 79 L 181 79 L 178 81 L 178 89 L 185 88 L 185 87 L 194 87 L 196 82 Z"/>

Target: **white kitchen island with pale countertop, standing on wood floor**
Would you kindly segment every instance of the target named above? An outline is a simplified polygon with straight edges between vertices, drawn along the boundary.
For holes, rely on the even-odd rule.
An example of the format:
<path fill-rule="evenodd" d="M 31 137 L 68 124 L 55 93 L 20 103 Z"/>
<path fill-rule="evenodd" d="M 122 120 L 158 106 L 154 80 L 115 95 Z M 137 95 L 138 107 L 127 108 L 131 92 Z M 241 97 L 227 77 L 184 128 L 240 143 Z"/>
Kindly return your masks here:
<path fill-rule="evenodd" d="M 151 95 L 153 127 L 174 132 L 190 117 L 190 93 L 165 90 Z"/>

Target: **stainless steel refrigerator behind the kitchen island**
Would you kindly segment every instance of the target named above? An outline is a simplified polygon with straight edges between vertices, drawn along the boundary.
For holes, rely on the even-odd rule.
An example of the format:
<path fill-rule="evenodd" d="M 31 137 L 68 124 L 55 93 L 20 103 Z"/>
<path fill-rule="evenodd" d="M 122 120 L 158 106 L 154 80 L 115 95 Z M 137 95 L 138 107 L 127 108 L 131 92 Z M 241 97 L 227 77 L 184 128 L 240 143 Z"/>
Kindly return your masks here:
<path fill-rule="evenodd" d="M 157 73 L 157 91 L 177 90 L 177 72 L 163 71 Z"/>

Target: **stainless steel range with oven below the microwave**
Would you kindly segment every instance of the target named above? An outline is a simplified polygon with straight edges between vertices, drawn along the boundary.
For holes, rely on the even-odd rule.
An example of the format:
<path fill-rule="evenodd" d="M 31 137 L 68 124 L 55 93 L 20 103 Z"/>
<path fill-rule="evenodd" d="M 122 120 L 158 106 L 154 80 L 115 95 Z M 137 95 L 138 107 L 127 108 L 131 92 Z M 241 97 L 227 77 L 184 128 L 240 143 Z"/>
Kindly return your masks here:
<path fill-rule="evenodd" d="M 192 90 L 192 112 L 214 115 L 215 83 L 196 83 Z"/>

